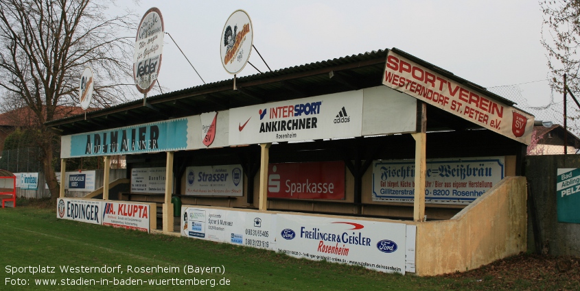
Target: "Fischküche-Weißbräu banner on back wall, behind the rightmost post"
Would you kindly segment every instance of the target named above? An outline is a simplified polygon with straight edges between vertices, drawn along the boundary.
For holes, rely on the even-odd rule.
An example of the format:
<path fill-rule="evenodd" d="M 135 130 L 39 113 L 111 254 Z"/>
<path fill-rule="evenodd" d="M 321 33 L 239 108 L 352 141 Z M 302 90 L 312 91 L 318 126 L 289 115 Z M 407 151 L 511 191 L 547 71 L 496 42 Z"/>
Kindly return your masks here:
<path fill-rule="evenodd" d="M 469 204 L 504 178 L 504 157 L 427 160 L 425 200 Z M 415 160 L 373 162 L 373 201 L 413 202 Z"/>

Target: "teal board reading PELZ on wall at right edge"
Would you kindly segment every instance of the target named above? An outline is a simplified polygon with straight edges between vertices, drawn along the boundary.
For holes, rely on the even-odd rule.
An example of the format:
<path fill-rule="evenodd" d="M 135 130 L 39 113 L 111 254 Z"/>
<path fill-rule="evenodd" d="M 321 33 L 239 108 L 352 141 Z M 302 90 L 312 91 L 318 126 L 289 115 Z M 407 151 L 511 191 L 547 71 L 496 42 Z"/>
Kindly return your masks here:
<path fill-rule="evenodd" d="M 580 168 L 558 168 L 556 184 L 559 223 L 580 223 Z"/>

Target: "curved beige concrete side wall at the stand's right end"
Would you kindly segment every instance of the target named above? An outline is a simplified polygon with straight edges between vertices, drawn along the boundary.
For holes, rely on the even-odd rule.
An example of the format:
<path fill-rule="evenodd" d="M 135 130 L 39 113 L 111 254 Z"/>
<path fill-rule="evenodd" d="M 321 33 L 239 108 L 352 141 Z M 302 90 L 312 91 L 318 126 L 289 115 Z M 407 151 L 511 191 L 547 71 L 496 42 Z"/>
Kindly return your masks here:
<path fill-rule="evenodd" d="M 506 177 L 450 220 L 417 223 L 417 275 L 465 271 L 526 251 L 526 178 Z"/>

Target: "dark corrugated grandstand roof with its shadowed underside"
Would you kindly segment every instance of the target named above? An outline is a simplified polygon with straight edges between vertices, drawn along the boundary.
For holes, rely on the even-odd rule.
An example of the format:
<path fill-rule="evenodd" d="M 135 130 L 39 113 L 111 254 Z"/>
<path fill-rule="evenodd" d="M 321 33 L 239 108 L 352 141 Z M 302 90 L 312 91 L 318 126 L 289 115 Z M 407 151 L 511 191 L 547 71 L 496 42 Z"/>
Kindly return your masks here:
<path fill-rule="evenodd" d="M 467 88 L 486 94 L 491 99 L 507 105 L 514 104 L 443 68 L 415 58 L 399 49 L 392 50 Z M 62 135 L 78 134 L 229 110 L 235 107 L 381 86 L 387 53 L 387 49 L 371 51 L 240 77 L 235 80 L 236 90 L 233 89 L 234 79 L 227 79 L 148 97 L 146 103 L 141 99 L 87 112 L 86 120 L 84 114 L 81 114 L 50 121 L 46 125 Z M 480 128 L 474 123 L 439 110 L 437 107 L 429 105 L 428 108 L 428 130 Z"/>

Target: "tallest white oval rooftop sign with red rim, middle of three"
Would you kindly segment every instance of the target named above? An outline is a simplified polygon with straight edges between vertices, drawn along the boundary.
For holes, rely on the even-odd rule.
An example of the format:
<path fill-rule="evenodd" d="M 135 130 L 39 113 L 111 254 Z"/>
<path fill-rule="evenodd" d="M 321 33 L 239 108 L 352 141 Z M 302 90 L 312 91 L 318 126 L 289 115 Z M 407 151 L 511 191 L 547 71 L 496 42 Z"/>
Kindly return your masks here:
<path fill-rule="evenodd" d="M 163 36 L 165 36 L 165 27 L 161 11 L 157 8 L 150 8 L 139 23 L 133 55 L 133 79 L 135 79 L 137 90 L 143 94 L 153 88 L 159 75 Z"/>

